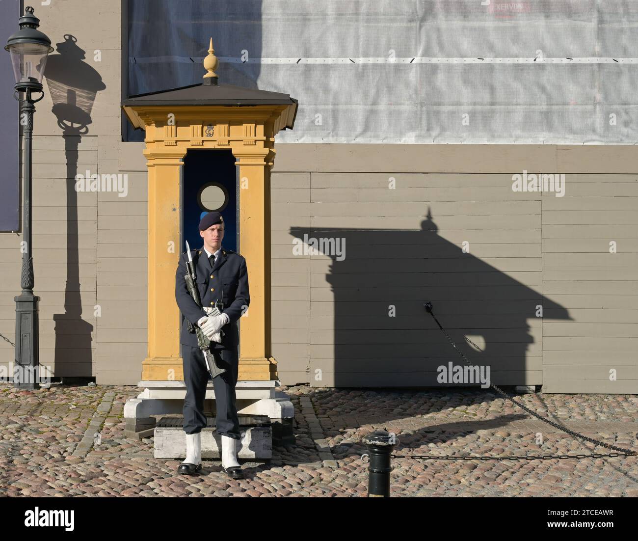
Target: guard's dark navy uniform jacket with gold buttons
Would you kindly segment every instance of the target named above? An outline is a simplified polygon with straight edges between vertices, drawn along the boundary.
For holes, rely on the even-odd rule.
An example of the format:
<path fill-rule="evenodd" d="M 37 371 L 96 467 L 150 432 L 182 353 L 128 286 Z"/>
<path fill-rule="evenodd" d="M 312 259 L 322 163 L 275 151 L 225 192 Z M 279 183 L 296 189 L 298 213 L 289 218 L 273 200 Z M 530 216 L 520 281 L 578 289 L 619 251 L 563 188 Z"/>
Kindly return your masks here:
<path fill-rule="evenodd" d="M 191 257 L 193 262 L 195 262 L 197 288 L 200 293 L 200 300 L 202 300 L 202 306 L 212 307 L 215 300 L 223 300 L 225 307 L 223 313 L 228 314 L 230 317 L 230 321 L 221 327 L 221 330 L 225 333 L 221 337 L 221 344 L 213 341 L 211 342 L 211 348 L 234 349 L 236 351 L 239 344 L 237 320 L 250 304 L 246 258 L 237 252 L 226 250 L 223 246 L 212 268 L 203 246 L 202 248 L 191 250 Z M 175 300 L 184 318 L 188 318 L 193 325 L 197 325 L 198 320 L 203 318 L 206 313 L 195 304 L 195 300 L 188 293 L 186 281 L 184 280 L 184 274 L 188 272 L 186 270 L 186 261 L 188 261 L 188 255 L 184 252 L 179 256 L 179 265 L 175 273 Z M 188 332 L 186 319 L 182 322 L 179 342 L 197 347 L 197 334 Z"/>

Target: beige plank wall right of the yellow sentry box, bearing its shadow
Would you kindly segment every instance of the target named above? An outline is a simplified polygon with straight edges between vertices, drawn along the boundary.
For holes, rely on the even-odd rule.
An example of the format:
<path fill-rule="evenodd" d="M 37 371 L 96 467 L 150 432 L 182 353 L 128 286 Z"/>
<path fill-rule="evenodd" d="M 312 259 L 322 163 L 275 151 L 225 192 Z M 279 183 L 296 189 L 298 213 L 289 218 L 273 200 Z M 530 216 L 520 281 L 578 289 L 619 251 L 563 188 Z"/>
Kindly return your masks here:
<path fill-rule="evenodd" d="M 434 385 L 437 366 L 462 361 L 424 313 L 429 299 L 496 383 L 635 392 L 633 154 L 598 146 L 279 145 L 272 340 L 282 381 Z M 591 168 L 599 173 L 578 174 Z M 524 170 L 570 173 L 566 195 L 512 191 L 512 175 Z M 293 255 L 292 239 L 304 233 L 345 239 L 345 260 Z M 609 254 L 610 235 L 623 253 Z"/>

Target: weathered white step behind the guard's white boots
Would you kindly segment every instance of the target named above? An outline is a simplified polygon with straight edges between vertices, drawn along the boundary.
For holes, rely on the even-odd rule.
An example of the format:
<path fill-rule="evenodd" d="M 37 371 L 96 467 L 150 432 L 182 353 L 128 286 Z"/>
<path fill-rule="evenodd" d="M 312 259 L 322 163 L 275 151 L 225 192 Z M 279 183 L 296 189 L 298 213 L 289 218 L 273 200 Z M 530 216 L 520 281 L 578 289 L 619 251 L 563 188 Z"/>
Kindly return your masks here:
<path fill-rule="evenodd" d="M 239 415 L 241 445 L 237 445 L 239 459 L 272 458 L 272 426 L 267 415 Z M 186 458 L 186 433 L 183 417 L 162 417 L 154 429 L 154 457 Z M 221 460 L 221 436 L 215 428 L 215 418 L 207 417 L 202 429 L 202 459 Z"/>

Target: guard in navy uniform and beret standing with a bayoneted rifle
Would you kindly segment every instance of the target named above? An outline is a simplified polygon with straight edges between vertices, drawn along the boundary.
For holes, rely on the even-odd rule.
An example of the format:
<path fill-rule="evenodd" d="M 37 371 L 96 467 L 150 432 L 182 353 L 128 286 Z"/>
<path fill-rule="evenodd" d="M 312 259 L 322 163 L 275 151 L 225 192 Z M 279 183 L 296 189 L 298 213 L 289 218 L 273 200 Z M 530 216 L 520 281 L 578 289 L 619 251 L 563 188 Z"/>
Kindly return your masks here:
<path fill-rule="evenodd" d="M 188 319 L 198 325 L 211 340 L 211 352 L 219 368 L 226 371 L 213 378 L 217 406 L 216 429 L 221 435 L 221 467 L 231 478 L 244 477 L 237 462 L 237 441 L 240 439 L 239 419 L 235 406 L 235 385 L 239 371 L 239 331 L 237 320 L 246 312 L 250 303 L 248 269 L 246 259 L 239 253 L 221 246 L 224 238 L 224 221 L 219 212 L 209 212 L 199 224 L 204 246 L 192 250 L 191 257 L 197 274 L 197 288 L 203 309 L 189 295 L 184 274 L 186 258 L 179 258 L 175 273 L 175 300 L 184 315 L 180 333 L 182 362 L 184 367 L 184 433 L 186 433 L 186 459 L 177 471 L 186 475 L 198 475 L 202 470 L 201 431 L 206 426 L 204 397 L 209 374 L 204 354 L 197 343 L 197 335 L 188 332 Z M 219 300 L 223 304 L 221 314 L 211 315 L 212 306 Z"/>

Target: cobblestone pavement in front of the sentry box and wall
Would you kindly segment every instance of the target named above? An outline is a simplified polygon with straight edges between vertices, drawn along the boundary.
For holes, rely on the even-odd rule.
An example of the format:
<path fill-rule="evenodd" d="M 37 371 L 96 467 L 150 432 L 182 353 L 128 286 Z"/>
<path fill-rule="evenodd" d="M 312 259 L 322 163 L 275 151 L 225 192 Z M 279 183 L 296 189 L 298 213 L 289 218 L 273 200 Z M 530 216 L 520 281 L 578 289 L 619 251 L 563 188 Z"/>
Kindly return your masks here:
<path fill-rule="evenodd" d="M 483 390 L 280 387 L 295 406 L 293 447 L 270 463 L 242 463 L 231 480 L 219 461 L 198 477 L 182 460 L 154 459 L 153 440 L 125 438 L 130 385 L 0 384 L 0 496 L 366 496 L 360 439 L 383 427 L 396 454 L 489 456 L 609 452 L 531 419 Z M 587 436 L 637 448 L 638 397 L 528 394 L 519 399 Z M 538 433 L 542 445 L 538 445 Z M 549 461 L 392 461 L 393 496 L 638 496 L 637 457 Z"/>

